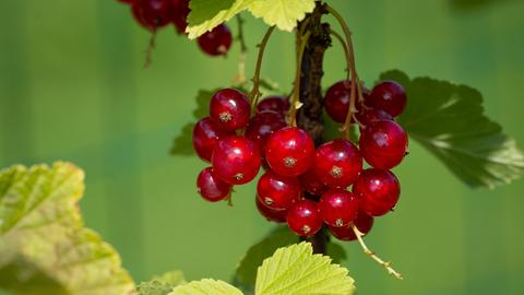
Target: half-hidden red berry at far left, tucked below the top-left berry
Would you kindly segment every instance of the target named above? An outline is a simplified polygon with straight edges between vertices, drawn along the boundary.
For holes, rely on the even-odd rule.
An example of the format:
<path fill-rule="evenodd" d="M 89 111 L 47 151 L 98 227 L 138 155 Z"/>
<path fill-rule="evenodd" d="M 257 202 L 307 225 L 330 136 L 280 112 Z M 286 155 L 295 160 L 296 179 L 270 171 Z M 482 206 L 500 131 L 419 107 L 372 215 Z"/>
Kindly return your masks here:
<path fill-rule="evenodd" d="M 213 150 L 218 140 L 229 134 L 218 128 L 209 117 L 203 118 L 193 128 L 193 149 L 200 158 L 211 162 Z"/>

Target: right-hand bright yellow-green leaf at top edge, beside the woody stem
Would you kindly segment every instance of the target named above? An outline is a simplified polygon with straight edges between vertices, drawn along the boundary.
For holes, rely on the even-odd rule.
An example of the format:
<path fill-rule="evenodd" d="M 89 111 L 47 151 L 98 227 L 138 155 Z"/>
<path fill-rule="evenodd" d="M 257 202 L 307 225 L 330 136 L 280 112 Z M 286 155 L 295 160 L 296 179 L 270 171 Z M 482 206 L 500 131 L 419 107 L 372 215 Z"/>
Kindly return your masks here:
<path fill-rule="evenodd" d="M 315 0 L 257 0 L 249 5 L 255 17 L 262 17 L 270 26 L 291 32 L 306 13 L 314 10 Z"/>

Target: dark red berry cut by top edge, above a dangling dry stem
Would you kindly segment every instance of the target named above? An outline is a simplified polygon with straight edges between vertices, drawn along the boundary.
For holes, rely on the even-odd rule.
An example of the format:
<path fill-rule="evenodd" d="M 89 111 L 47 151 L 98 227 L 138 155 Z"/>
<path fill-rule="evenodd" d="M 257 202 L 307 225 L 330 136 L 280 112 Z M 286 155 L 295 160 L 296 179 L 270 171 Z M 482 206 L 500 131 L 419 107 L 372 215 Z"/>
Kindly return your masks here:
<path fill-rule="evenodd" d="M 134 9 L 136 10 L 134 12 Z M 167 25 L 171 21 L 170 0 L 136 0 L 133 4 L 139 23 L 150 31 Z"/>

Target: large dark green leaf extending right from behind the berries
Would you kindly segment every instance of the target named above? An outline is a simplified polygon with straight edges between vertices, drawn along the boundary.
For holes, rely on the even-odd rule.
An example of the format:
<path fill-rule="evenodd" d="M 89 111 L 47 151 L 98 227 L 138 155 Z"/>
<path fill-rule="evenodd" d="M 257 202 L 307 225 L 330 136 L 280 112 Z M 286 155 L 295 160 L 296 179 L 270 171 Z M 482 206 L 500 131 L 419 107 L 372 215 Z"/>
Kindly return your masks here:
<path fill-rule="evenodd" d="M 408 103 L 398 122 L 461 180 L 493 188 L 522 175 L 524 155 L 500 125 L 486 117 L 477 90 L 430 78 L 410 80 L 396 70 L 380 79 L 404 86 Z"/>

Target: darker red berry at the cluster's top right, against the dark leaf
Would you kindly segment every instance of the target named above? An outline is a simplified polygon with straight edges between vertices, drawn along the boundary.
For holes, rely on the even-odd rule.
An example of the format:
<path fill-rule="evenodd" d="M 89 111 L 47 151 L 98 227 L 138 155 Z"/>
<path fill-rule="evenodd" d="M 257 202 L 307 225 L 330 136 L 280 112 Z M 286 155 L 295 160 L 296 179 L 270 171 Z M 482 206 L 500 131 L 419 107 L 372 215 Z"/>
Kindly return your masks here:
<path fill-rule="evenodd" d="M 369 98 L 366 99 L 366 105 L 383 109 L 396 117 L 406 107 L 406 92 L 395 81 L 382 81 L 373 87 Z"/>

